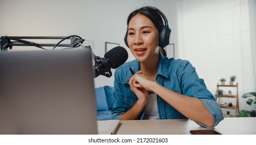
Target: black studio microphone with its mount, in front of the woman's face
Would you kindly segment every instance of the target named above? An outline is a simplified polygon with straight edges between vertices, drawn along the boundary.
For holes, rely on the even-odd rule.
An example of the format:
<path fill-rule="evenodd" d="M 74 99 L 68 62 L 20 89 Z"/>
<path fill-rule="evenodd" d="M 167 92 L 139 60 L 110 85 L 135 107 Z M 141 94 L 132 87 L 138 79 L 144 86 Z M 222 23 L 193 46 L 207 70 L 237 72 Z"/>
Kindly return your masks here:
<path fill-rule="evenodd" d="M 110 78 L 112 76 L 111 68 L 115 69 L 124 64 L 128 59 L 128 53 L 123 47 L 115 47 L 107 51 L 104 58 L 97 56 L 93 66 L 94 78 L 99 75 Z"/>

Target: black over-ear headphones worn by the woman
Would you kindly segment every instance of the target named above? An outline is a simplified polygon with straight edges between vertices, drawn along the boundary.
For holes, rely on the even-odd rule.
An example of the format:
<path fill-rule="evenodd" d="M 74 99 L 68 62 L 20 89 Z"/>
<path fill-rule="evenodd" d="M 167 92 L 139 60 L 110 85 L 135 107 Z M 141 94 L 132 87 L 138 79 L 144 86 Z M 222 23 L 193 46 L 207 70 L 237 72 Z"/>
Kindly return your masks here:
<path fill-rule="evenodd" d="M 160 29 L 160 32 L 159 32 L 159 44 L 158 44 L 158 46 L 161 47 L 161 48 L 165 48 L 167 45 L 170 44 L 170 39 L 171 39 L 171 36 L 170 36 L 171 29 L 168 26 L 167 18 L 165 17 L 164 13 L 161 12 L 158 8 L 152 7 L 152 6 L 147 6 L 147 7 L 150 7 L 152 9 L 154 9 L 164 19 L 165 25 L 161 26 L 161 29 Z M 128 31 L 126 31 L 126 34 L 125 34 L 125 44 L 129 48 L 128 42 L 127 42 L 127 35 L 128 35 Z"/>

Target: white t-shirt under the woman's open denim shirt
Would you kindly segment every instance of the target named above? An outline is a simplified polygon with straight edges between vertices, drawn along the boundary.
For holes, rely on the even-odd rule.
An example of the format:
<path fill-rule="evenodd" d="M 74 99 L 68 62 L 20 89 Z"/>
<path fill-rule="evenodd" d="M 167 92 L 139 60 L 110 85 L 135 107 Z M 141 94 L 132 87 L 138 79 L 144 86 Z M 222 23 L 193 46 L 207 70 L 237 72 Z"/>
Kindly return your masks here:
<path fill-rule="evenodd" d="M 157 100 L 156 93 L 149 95 L 147 103 L 145 105 L 145 112 L 143 119 L 159 119 L 158 109 L 157 109 Z"/>

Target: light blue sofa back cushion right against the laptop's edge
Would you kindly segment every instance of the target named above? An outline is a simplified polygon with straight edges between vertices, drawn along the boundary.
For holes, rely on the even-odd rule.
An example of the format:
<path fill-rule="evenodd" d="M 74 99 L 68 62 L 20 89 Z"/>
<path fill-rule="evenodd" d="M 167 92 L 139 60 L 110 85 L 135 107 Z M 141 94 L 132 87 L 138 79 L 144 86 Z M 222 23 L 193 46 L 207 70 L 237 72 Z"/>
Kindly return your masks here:
<path fill-rule="evenodd" d="M 95 89 L 95 96 L 96 96 L 97 111 L 109 110 L 109 107 L 107 106 L 107 100 L 106 100 L 105 90 L 103 86 Z"/>

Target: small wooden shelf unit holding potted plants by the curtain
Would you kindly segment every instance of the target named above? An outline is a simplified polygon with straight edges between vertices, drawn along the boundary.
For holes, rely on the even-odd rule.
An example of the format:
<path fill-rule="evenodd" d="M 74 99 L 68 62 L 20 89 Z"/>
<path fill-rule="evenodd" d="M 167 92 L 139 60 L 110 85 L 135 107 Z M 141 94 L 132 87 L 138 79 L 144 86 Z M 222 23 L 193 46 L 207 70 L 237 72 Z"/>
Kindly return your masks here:
<path fill-rule="evenodd" d="M 236 94 L 235 95 L 215 95 L 215 99 L 217 100 L 218 104 L 220 105 L 221 108 L 225 109 L 234 109 L 235 110 L 235 115 L 231 115 L 231 117 L 237 117 L 238 111 L 239 111 L 239 103 L 238 103 L 238 83 L 234 85 L 225 85 L 225 84 L 217 84 L 217 90 L 221 90 L 220 88 L 222 87 L 235 87 L 236 88 Z M 221 104 L 221 98 L 228 98 L 228 99 L 235 99 L 236 104 L 233 106 L 228 106 Z M 223 114 L 224 117 L 226 117 L 226 114 Z"/>

